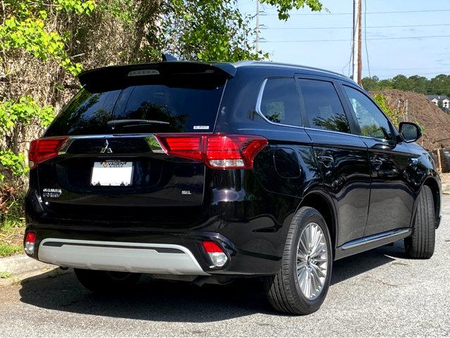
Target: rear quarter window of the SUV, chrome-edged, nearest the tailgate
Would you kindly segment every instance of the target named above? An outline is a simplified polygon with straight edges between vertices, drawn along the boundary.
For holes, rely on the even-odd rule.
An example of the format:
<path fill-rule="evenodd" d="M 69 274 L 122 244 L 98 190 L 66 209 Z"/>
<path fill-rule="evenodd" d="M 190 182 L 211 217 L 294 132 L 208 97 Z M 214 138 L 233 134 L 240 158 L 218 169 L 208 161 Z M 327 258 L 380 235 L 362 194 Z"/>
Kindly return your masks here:
<path fill-rule="evenodd" d="M 301 126 L 299 95 L 294 79 L 268 79 L 265 82 L 260 109 L 271 122 Z"/>

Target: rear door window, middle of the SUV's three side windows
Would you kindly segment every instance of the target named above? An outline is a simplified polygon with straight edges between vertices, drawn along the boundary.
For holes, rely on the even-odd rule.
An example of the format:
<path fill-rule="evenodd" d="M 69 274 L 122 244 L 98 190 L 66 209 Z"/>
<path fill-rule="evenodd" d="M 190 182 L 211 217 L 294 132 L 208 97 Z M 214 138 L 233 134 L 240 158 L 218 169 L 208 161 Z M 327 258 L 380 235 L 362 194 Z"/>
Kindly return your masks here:
<path fill-rule="evenodd" d="M 331 82 L 299 79 L 300 101 L 311 128 L 350 132 L 349 121 Z"/>

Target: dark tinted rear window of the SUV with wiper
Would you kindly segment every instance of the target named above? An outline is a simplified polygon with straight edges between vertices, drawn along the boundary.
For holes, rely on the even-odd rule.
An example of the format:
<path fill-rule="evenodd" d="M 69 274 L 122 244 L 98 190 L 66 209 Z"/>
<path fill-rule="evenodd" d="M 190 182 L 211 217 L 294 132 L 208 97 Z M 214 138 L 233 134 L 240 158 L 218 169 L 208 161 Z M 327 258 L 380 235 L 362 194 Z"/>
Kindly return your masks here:
<path fill-rule="evenodd" d="M 106 92 L 82 89 L 58 114 L 45 136 L 130 132 L 212 132 L 225 84 L 203 88 L 139 84 Z M 111 120 L 151 120 L 120 125 Z M 160 123 L 158 123 L 160 122 Z"/>

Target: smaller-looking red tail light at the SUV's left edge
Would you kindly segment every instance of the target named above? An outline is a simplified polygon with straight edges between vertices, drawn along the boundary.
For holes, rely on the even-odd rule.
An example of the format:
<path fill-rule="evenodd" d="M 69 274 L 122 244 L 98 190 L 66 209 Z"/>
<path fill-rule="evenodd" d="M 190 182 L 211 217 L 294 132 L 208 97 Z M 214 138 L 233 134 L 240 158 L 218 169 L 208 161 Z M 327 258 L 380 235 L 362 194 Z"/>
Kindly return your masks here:
<path fill-rule="evenodd" d="M 58 156 L 58 152 L 68 137 L 44 137 L 35 139 L 30 143 L 28 152 L 28 165 L 35 168 L 39 163 Z"/>

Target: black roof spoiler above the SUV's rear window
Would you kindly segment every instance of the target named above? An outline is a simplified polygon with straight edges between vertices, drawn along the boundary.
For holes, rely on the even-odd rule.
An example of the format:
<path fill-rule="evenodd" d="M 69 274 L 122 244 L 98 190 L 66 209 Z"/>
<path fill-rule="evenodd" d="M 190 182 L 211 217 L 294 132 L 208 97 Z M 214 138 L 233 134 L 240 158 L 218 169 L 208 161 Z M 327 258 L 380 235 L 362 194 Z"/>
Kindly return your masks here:
<path fill-rule="evenodd" d="M 130 83 L 146 82 L 157 79 L 158 77 L 202 75 L 229 79 L 236 74 L 235 66 L 230 63 L 168 61 L 132 65 L 111 65 L 86 70 L 78 75 L 78 80 L 80 80 L 83 87 L 98 89 L 99 87 L 106 88 L 120 83 L 126 86 Z"/>

